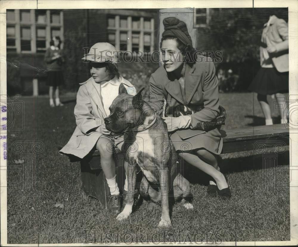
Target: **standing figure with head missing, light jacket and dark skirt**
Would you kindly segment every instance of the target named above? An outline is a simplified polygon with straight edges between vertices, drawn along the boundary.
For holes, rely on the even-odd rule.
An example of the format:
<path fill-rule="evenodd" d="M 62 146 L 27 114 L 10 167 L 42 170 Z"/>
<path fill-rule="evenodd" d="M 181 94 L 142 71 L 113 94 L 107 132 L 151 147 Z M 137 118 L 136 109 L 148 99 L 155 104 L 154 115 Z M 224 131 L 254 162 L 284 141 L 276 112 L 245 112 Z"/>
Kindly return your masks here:
<path fill-rule="evenodd" d="M 269 21 L 264 25 L 261 38 L 261 69 L 248 88 L 250 91 L 257 92 L 257 99 L 266 125 L 273 124 L 267 95 L 272 95 L 279 101 L 281 123 L 287 123 L 283 93 L 289 92 L 288 49 L 288 24 L 283 19 L 271 15 Z"/>

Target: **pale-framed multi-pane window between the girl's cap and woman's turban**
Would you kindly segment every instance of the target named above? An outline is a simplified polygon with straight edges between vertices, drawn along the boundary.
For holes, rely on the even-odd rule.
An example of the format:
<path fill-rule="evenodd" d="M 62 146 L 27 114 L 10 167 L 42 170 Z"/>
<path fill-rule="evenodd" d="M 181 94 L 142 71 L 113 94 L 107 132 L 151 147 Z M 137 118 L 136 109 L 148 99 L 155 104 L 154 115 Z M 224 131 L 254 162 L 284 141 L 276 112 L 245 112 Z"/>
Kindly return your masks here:
<path fill-rule="evenodd" d="M 141 16 L 107 16 L 108 42 L 117 50 L 153 52 L 154 19 Z"/>

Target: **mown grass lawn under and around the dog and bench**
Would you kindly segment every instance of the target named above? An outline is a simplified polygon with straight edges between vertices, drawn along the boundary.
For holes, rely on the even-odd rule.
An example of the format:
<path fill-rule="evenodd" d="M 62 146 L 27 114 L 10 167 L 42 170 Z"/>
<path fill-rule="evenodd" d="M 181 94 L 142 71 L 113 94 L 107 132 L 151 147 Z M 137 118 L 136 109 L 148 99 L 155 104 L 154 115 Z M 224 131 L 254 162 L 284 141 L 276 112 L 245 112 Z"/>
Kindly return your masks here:
<path fill-rule="evenodd" d="M 176 203 L 167 231 L 157 229 L 161 208 L 150 211 L 145 201 L 128 220 L 118 222 L 96 199 L 84 200 L 79 163 L 70 163 L 57 150 L 75 129 L 74 99 L 64 97 L 65 106 L 50 108 L 48 98 L 20 98 L 24 101 L 24 130 L 9 138 L 7 164 L 15 166 L 14 160 L 20 159 L 20 153 L 11 150 L 14 141 L 43 142 L 45 149 L 35 159 L 36 190 L 43 195 L 23 195 L 27 192 L 20 188 L 21 172 L 7 172 L 8 182 L 18 184 L 7 188 L 8 243 L 290 240 L 289 188 L 281 185 L 289 182 L 288 151 L 278 156 L 276 188 L 269 192 L 263 176 L 273 174 L 274 169 L 263 169 L 262 156 L 253 152 L 221 155 L 221 170 L 232 190 L 230 200 L 207 196 L 204 175 L 191 171 L 194 209 L 187 211 Z M 264 124 L 252 93 L 221 94 L 220 99 L 228 114 L 223 129 Z M 24 145 L 24 152 L 31 152 L 29 144 Z M 55 203 L 63 203 L 64 209 Z"/>

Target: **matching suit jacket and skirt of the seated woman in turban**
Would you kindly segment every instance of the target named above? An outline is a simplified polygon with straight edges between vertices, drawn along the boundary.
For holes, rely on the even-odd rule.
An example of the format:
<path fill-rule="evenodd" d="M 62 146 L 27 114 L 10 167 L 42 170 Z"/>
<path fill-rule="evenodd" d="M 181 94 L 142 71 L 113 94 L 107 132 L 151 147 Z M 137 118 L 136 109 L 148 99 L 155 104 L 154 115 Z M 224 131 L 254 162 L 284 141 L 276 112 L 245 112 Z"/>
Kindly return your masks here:
<path fill-rule="evenodd" d="M 166 116 L 171 116 L 178 105 L 204 106 L 201 111 L 190 115 L 190 129 L 195 128 L 199 122 L 215 119 L 219 113 L 219 93 L 213 62 L 199 55 L 193 67 L 186 65 L 185 96 L 179 81 L 171 73 L 167 73 L 163 66 L 159 67 L 150 78 L 150 102 L 160 115 L 163 111 L 164 98 L 167 101 Z M 171 140 L 176 150 L 181 150 L 183 145 L 184 151 L 205 148 L 215 154 L 221 153 L 223 145 L 221 134 L 216 128 L 182 142 L 179 135 L 174 132 Z"/>

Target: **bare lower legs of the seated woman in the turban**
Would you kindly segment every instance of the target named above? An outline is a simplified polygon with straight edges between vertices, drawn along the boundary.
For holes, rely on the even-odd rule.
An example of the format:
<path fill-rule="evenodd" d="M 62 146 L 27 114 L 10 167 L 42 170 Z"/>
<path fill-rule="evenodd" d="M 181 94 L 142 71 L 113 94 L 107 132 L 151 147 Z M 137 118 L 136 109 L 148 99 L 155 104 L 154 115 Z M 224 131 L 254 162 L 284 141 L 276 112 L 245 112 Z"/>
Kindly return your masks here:
<path fill-rule="evenodd" d="M 183 156 L 183 159 L 187 163 L 190 163 L 191 165 L 210 175 L 215 180 L 218 189 L 221 190 L 228 187 L 224 175 L 219 171 L 216 158 L 211 157 L 212 153 L 205 149 L 200 149 L 196 151 L 195 154 L 181 153 L 180 155 Z M 203 159 L 211 162 L 207 163 Z"/>

